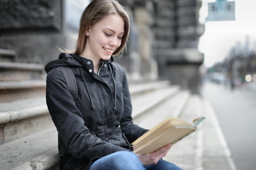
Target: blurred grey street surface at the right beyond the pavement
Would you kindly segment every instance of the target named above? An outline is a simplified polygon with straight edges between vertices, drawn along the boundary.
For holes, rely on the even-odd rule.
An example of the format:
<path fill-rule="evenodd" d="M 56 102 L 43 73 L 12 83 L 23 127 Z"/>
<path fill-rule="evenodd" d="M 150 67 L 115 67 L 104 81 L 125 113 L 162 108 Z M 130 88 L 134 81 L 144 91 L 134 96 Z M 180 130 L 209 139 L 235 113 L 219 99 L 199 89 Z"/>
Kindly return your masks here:
<path fill-rule="evenodd" d="M 256 93 L 206 82 L 202 95 L 213 105 L 237 170 L 255 169 Z"/>

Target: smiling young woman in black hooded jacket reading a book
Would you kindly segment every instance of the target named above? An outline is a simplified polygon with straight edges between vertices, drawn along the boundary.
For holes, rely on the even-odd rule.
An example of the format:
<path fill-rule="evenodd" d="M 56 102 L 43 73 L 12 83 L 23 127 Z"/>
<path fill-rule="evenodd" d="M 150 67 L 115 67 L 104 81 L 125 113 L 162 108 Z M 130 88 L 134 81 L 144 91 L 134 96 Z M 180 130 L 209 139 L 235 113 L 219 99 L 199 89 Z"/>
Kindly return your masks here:
<path fill-rule="evenodd" d="M 147 130 L 133 124 L 126 74 L 120 81 L 112 65 L 112 55 L 126 47 L 129 27 L 128 12 L 118 2 L 94 0 L 81 16 L 75 52 L 45 66 L 46 103 L 65 149 L 60 169 L 180 170 L 161 159 L 171 145 L 150 154 L 131 151 L 130 143 Z M 76 101 L 60 66 L 75 75 Z"/>

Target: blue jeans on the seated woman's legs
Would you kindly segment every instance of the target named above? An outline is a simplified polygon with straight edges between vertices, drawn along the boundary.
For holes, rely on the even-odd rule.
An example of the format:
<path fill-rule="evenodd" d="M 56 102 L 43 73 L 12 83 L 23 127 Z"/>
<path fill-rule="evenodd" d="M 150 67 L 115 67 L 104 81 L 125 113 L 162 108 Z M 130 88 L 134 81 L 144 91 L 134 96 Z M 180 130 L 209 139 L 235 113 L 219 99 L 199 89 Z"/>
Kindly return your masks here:
<path fill-rule="evenodd" d="M 136 154 L 119 151 L 95 161 L 90 170 L 182 170 L 175 164 L 159 160 L 157 164 L 143 166 Z"/>

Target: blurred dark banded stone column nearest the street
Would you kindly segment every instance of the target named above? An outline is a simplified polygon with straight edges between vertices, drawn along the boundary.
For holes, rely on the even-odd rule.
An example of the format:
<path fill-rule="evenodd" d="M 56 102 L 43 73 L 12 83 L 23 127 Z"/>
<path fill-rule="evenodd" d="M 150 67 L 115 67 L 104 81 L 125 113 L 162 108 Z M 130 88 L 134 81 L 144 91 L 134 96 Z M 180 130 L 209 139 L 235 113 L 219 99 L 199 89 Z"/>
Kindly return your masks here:
<path fill-rule="evenodd" d="M 162 42 L 156 47 L 159 77 L 199 93 L 199 66 L 204 58 L 197 49 L 198 37 L 204 32 L 204 26 L 198 24 L 201 1 L 156 2 L 155 37 Z"/>

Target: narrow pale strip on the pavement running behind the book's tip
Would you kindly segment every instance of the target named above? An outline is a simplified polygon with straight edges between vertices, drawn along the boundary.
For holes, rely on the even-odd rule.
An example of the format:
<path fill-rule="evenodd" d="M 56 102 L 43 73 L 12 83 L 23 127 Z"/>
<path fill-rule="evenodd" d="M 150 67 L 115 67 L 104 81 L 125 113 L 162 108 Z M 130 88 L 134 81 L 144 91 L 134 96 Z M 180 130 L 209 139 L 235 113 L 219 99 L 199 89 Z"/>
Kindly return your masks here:
<path fill-rule="evenodd" d="M 197 96 L 197 105 L 196 105 L 196 117 L 202 116 L 203 106 L 202 100 Z M 202 167 L 202 156 L 203 156 L 203 125 L 200 124 L 200 127 L 196 131 L 196 155 L 195 155 L 195 170 L 203 170 Z"/>

